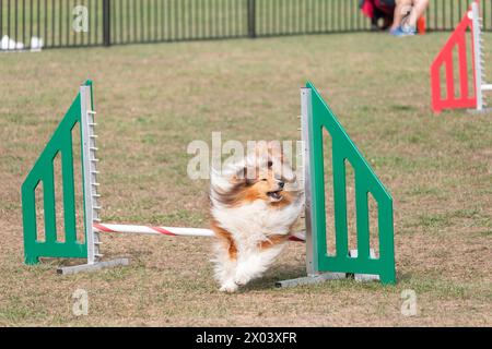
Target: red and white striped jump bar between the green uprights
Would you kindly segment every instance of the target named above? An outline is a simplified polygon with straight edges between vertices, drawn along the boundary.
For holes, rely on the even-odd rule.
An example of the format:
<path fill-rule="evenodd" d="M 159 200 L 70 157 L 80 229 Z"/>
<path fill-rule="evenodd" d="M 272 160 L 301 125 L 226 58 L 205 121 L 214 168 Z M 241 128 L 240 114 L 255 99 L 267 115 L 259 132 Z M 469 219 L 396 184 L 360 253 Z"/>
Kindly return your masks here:
<path fill-rule="evenodd" d="M 113 225 L 113 224 L 93 224 L 95 231 L 99 232 L 121 232 L 121 233 L 141 233 L 149 236 L 171 236 L 171 237 L 213 237 L 213 231 L 201 228 L 176 228 L 176 227 L 150 227 L 150 226 L 131 226 L 131 225 Z M 303 232 L 293 233 L 291 241 L 306 241 Z"/>

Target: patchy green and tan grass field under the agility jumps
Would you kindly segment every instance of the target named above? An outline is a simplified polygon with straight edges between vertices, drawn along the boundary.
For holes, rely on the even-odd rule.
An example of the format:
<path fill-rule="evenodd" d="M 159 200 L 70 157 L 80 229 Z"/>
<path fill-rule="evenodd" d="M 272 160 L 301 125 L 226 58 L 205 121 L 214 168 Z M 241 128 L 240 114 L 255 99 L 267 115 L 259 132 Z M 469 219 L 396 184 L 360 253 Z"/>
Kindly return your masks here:
<path fill-rule="evenodd" d="M 491 326 L 492 122 L 432 115 L 429 67 L 446 36 L 1 55 L 0 325 Z M 208 182 L 186 177 L 188 143 L 210 142 L 213 131 L 223 140 L 296 140 L 298 87 L 312 80 L 394 196 L 398 284 L 276 289 L 276 280 L 304 274 L 304 246 L 291 244 L 265 278 L 223 294 L 210 242 L 197 238 L 105 236 L 106 258 L 132 262 L 96 274 L 56 275 L 60 261 L 25 266 L 20 185 L 87 77 L 104 220 L 197 227 L 208 221 Z M 89 292 L 86 316 L 72 314 L 77 289 Z M 406 289 L 417 293 L 415 316 L 400 312 Z"/>

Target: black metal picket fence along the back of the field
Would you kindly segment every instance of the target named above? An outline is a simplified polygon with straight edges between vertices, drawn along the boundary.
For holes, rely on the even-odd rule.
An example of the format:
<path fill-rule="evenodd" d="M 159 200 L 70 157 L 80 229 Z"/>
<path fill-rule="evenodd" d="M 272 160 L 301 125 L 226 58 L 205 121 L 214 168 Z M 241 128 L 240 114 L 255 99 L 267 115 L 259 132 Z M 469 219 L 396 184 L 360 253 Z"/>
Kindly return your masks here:
<path fill-rule="evenodd" d="M 427 29 L 453 29 L 470 1 L 431 0 Z M 491 1 L 481 1 L 485 31 Z M 31 48 L 32 37 L 59 48 L 370 28 L 359 0 L 0 0 L 0 49 Z"/>

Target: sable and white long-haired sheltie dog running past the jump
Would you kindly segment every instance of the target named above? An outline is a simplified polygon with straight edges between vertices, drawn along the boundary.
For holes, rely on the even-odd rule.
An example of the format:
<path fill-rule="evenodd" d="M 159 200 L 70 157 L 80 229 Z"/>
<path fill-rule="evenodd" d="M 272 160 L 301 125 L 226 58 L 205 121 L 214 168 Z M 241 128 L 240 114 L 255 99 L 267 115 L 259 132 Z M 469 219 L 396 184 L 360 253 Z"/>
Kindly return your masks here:
<path fill-rule="evenodd" d="M 220 290 L 235 292 L 260 277 L 282 252 L 302 209 L 302 193 L 279 143 L 212 170 L 211 228 Z"/>

